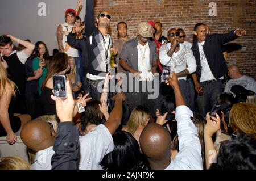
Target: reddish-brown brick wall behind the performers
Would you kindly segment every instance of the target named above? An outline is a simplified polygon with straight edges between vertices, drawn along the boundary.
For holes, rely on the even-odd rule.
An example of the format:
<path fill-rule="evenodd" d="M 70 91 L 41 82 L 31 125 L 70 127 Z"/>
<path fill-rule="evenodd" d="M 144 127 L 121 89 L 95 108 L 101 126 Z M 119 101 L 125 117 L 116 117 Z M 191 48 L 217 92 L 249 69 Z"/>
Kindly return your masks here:
<path fill-rule="evenodd" d="M 92 1 L 92 0 L 89 0 Z M 217 5 L 217 16 L 210 16 L 210 2 Z M 232 43 L 246 47 L 228 53 L 228 65 L 237 64 L 243 74 L 256 79 L 256 1 L 254 0 L 97 0 L 95 14 L 107 10 L 113 16 L 109 33 L 117 39 L 116 26 L 127 23 L 130 38 L 137 36 L 139 22 L 154 20 L 163 23 L 166 36 L 170 28 L 183 28 L 187 40 L 192 41 L 193 26 L 198 22 L 208 24 L 212 33 L 226 33 L 237 27 L 247 31 Z"/>

